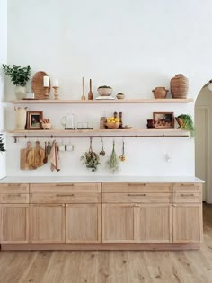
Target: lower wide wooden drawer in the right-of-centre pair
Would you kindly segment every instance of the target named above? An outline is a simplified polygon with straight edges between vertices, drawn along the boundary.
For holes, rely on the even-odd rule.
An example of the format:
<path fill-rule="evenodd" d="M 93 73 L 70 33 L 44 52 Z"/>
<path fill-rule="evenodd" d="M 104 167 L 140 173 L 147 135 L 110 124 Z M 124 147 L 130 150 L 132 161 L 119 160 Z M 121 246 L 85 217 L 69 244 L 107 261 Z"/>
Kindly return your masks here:
<path fill-rule="evenodd" d="M 102 202 L 171 202 L 171 193 L 102 193 Z"/>

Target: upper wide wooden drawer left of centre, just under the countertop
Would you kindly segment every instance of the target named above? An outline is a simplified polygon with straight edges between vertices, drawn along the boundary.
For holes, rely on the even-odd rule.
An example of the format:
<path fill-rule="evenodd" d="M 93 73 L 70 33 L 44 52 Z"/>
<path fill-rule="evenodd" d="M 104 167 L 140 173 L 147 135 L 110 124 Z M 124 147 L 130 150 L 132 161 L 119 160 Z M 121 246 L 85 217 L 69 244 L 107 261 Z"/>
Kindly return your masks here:
<path fill-rule="evenodd" d="M 31 184 L 30 192 L 31 193 L 101 192 L 101 184 L 95 182 Z"/>

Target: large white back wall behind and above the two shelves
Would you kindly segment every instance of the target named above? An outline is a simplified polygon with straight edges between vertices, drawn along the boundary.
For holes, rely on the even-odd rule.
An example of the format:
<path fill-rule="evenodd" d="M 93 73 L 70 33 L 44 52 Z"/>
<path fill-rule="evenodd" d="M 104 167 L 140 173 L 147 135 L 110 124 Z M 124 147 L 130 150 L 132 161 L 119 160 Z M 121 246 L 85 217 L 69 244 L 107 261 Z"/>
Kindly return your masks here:
<path fill-rule="evenodd" d="M 204 5 L 198 0 L 186 4 L 182 0 L 9 0 L 8 63 L 30 64 L 32 75 L 44 70 L 52 80 L 57 78 L 61 99 L 81 97 L 82 76 L 87 83 L 86 93 L 88 80 L 93 78 L 95 95 L 99 85 L 108 84 L 114 93 L 125 93 L 127 98 L 150 98 L 155 86 L 169 88 L 171 77 L 179 73 L 189 77 L 189 97 L 195 98 L 211 78 L 208 64 L 212 43 L 208 36 L 208 27 L 212 24 L 211 8 L 209 0 Z M 13 85 L 9 82 L 7 97 L 8 100 L 14 98 Z M 44 116 L 52 120 L 55 128 L 61 127 L 59 119 L 68 112 L 75 112 L 78 121 L 93 120 L 98 128 L 104 110 L 108 115 L 123 111 L 125 124 L 146 128 L 146 119 L 152 117 L 153 111 L 193 114 L 193 105 L 34 105 L 30 110 L 44 111 Z M 7 117 L 10 118 L 7 128 L 14 128 L 13 105 L 8 107 Z M 72 142 L 75 151 L 61 156 L 61 172 L 50 172 L 49 165 L 33 172 L 21 172 L 19 151 L 25 146 L 25 140 L 14 145 L 9 137 L 8 175 L 91 174 L 79 161 L 89 141 L 77 139 Z M 100 140 L 93 142 L 93 149 L 99 152 Z M 105 141 L 108 155 L 111 142 Z M 118 138 L 117 151 L 120 154 L 121 139 Z M 172 155 L 170 164 L 165 162 L 167 152 Z M 127 139 L 126 155 L 127 161 L 119 174 L 194 174 L 194 143 L 190 138 Z M 108 174 L 104 165 L 97 174 Z"/>

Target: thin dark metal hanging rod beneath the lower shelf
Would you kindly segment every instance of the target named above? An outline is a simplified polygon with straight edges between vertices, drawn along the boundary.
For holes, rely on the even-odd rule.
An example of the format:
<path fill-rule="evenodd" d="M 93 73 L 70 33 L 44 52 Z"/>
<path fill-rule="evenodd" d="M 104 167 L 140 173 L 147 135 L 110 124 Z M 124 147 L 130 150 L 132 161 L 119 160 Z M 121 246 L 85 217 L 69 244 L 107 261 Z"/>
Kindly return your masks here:
<path fill-rule="evenodd" d="M 104 137 L 190 137 L 189 135 L 156 135 L 156 136 L 150 136 L 150 135 L 128 135 L 128 136 L 114 136 L 114 135 L 110 135 L 110 136 L 54 136 L 54 135 L 50 135 L 50 136 L 12 136 L 14 138 L 14 143 L 17 142 L 17 138 L 82 138 L 82 137 L 99 137 L 99 138 L 104 138 Z"/>

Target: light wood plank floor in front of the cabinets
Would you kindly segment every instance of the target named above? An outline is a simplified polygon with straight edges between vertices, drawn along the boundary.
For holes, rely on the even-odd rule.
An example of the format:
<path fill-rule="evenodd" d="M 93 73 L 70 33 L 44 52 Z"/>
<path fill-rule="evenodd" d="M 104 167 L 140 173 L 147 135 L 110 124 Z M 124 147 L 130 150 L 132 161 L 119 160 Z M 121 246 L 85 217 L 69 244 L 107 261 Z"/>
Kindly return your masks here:
<path fill-rule="evenodd" d="M 212 205 L 200 251 L 0 252 L 0 283 L 16 282 L 212 282 Z"/>

